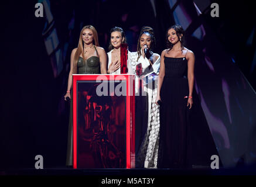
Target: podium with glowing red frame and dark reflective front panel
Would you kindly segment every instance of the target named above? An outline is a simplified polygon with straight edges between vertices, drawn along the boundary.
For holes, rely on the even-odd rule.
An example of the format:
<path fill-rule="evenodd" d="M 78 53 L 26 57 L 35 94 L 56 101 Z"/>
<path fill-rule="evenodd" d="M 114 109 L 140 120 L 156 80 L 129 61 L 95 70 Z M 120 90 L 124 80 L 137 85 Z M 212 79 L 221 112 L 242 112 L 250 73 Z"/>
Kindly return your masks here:
<path fill-rule="evenodd" d="M 73 168 L 135 168 L 134 75 L 73 75 Z"/>

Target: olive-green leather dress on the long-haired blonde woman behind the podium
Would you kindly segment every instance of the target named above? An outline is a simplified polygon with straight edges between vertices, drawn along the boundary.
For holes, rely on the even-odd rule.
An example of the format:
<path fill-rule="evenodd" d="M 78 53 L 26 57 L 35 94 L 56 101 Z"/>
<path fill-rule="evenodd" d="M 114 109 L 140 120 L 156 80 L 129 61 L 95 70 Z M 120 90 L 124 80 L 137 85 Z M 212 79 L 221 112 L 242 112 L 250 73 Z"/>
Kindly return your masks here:
<path fill-rule="evenodd" d="M 78 74 L 100 74 L 100 58 L 98 57 L 98 51 L 94 46 L 97 53 L 96 56 L 92 56 L 87 60 L 83 60 L 82 57 L 77 61 L 77 73 Z M 71 91 L 70 99 L 70 115 L 69 115 L 69 131 L 67 137 L 67 159 L 66 165 L 73 165 L 73 92 Z"/>

